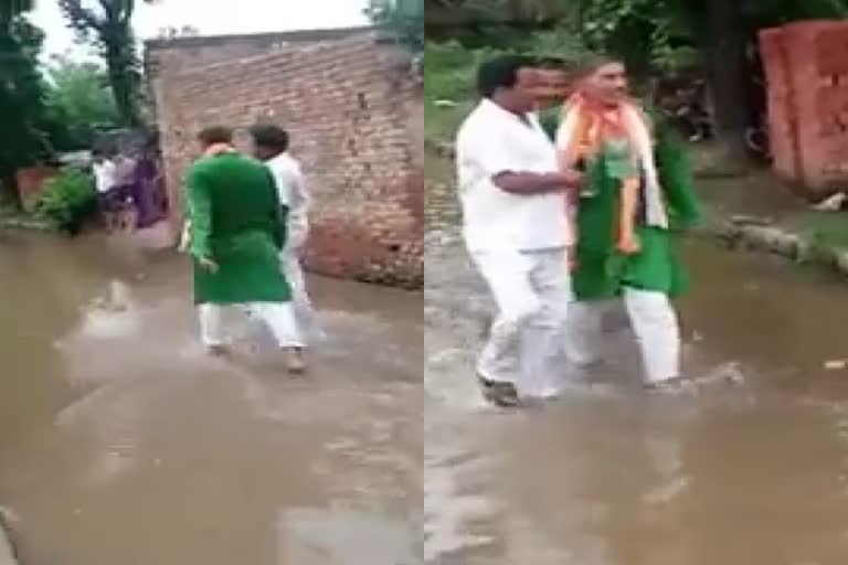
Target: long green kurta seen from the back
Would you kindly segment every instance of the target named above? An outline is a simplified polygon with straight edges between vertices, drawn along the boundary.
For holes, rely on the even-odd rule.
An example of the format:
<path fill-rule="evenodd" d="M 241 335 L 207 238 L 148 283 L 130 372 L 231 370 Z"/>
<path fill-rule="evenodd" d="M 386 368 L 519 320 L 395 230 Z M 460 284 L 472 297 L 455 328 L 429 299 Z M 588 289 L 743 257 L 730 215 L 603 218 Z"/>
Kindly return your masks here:
<path fill-rule="evenodd" d="M 290 300 L 278 256 L 287 211 L 263 163 L 236 152 L 201 159 L 188 172 L 186 200 L 195 303 Z M 201 268 L 201 257 L 214 260 L 218 273 Z"/>

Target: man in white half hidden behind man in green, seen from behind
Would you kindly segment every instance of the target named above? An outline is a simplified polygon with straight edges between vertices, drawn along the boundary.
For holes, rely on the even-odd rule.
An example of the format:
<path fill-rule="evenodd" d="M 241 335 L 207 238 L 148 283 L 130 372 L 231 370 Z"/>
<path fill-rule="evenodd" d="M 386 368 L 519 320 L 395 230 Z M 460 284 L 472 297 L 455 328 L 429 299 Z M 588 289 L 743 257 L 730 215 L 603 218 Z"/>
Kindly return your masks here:
<path fill-rule="evenodd" d="M 288 153 L 289 137 L 283 128 L 257 125 L 251 129 L 254 154 L 265 161 L 277 184 L 279 202 L 288 207 L 286 247 L 280 260 L 292 285 L 295 315 L 300 334 L 320 334 L 301 267 L 304 246 L 309 235 L 309 193 L 306 190 L 300 163 Z"/>

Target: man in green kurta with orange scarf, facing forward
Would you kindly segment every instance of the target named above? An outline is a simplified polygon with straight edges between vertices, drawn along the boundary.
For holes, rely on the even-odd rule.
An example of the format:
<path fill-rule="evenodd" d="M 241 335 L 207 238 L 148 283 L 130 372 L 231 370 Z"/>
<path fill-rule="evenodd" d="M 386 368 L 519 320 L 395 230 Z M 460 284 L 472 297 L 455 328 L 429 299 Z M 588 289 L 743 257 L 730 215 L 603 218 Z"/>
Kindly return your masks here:
<path fill-rule="evenodd" d="M 643 352 L 648 386 L 680 379 L 680 331 L 671 298 L 687 285 L 677 234 L 699 220 L 682 147 L 627 95 L 622 63 L 600 58 L 556 127 L 560 163 L 586 173 L 576 203 L 569 353 L 598 358 L 601 316 L 623 298 Z"/>

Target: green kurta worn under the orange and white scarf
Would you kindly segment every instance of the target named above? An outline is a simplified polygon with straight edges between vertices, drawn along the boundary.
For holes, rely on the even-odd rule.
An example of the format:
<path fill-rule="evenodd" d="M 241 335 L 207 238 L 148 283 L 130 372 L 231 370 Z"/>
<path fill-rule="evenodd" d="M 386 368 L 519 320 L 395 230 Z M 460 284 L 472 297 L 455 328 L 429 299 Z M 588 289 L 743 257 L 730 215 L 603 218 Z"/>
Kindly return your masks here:
<path fill-rule="evenodd" d="M 607 145 L 586 171 L 586 192 L 592 195 L 580 200 L 577 211 L 577 269 L 573 282 L 579 300 L 613 298 L 619 296 L 624 287 L 678 296 L 688 286 L 678 259 L 677 239 L 681 230 L 700 220 L 700 212 L 686 151 L 660 128 L 655 156 L 669 230 L 637 221 L 640 250 L 627 256 L 616 247 L 622 179 L 633 172 L 624 162 L 622 149 L 621 143 Z"/>

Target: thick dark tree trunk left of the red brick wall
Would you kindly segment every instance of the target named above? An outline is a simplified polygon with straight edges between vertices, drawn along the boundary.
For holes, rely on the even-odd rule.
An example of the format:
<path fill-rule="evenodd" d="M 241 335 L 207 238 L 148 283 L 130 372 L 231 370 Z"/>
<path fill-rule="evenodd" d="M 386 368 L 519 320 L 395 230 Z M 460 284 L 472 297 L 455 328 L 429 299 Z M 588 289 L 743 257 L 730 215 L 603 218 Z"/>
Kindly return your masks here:
<path fill-rule="evenodd" d="M 750 116 L 745 32 L 740 0 L 707 0 L 710 86 L 720 141 L 728 157 L 748 157 L 745 129 Z"/>

